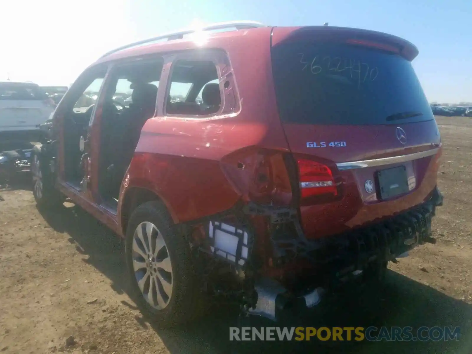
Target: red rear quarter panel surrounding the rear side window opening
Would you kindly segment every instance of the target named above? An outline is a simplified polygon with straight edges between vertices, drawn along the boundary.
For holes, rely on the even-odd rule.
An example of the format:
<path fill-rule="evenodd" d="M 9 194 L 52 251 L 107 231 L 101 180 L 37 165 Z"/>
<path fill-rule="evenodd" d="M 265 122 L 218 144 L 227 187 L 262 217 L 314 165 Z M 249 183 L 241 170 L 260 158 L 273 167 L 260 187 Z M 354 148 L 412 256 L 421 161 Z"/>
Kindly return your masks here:
<path fill-rule="evenodd" d="M 208 48 L 227 52 L 240 110 L 223 117 L 166 117 L 163 103 L 169 67 L 164 67 L 158 92 L 157 117 L 143 127 L 135 157 L 121 195 L 133 187 L 157 194 L 176 223 L 199 219 L 231 208 L 244 191 L 228 182 L 221 159 L 246 147 L 288 152 L 278 120 L 270 67 L 270 28 L 219 34 Z M 229 40 L 229 38 L 231 39 Z M 189 41 L 176 41 L 173 49 L 196 49 Z M 143 49 L 144 51 L 145 49 Z M 224 76 L 226 75 L 226 76 Z M 118 204 L 122 212 L 123 197 Z"/>

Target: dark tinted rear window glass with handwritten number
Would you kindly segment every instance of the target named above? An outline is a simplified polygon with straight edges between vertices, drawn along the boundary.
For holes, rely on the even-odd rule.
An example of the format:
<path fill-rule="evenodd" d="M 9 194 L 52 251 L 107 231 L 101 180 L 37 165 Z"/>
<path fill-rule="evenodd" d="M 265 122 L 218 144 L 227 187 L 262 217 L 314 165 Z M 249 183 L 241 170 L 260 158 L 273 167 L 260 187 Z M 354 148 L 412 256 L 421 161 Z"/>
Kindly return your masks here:
<path fill-rule="evenodd" d="M 359 46 L 272 48 L 280 118 L 301 124 L 398 124 L 434 119 L 411 63 Z"/>

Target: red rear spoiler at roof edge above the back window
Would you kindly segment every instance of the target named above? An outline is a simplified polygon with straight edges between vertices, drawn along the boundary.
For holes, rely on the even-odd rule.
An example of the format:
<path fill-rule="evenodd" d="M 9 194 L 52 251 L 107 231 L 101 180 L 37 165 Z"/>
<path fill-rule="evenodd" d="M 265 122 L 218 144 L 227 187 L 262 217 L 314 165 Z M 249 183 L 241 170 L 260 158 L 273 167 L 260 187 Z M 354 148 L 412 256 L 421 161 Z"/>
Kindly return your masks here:
<path fill-rule="evenodd" d="M 412 61 L 418 56 L 418 48 L 403 38 L 377 31 L 349 27 L 304 26 L 273 27 L 272 46 L 286 42 L 342 42 L 362 45 L 400 54 Z"/>

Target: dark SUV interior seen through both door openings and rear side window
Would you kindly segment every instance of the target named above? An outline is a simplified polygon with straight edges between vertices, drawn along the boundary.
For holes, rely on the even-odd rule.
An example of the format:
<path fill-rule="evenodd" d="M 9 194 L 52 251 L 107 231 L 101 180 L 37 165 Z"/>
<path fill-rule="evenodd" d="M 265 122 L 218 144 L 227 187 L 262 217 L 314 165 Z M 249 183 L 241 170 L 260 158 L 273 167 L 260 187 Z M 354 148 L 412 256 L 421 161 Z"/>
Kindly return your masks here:
<path fill-rule="evenodd" d="M 162 65 L 162 60 L 152 60 L 117 67 L 107 79 L 110 80 L 108 91 L 102 93 L 105 99 L 100 127 L 99 191 L 102 201 L 112 210 L 116 209 L 121 182 L 141 130 L 154 116 Z M 129 104 L 113 100 L 120 93 L 131 94 Z M 213 62 L 179 60 L 175 63 L 165 114 L 207 116 L 218 112 L 220 104 L 218 72 Z M 94 103 L 88 107 L 76 105 L 66 119 L 66 174 L 72 185 L 79 186 L 84 177 L 79 141 L 87 135 L 94 106 Z"/>

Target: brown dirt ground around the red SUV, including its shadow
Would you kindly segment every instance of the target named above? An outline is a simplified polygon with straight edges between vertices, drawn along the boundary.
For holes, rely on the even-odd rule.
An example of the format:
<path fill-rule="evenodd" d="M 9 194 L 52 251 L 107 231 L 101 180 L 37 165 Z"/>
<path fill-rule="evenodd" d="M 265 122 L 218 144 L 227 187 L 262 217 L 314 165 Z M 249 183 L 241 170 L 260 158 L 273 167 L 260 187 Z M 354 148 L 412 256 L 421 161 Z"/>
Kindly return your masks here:
<path fill-rule="evenodd" d="M 73 204 L 38 211 L 31 191 L 13 185 L 0 190 L 0 352 L 472 353 L 472 119 L 439 117 L 438 125 L 438 243 L 391 264 L 385 288 L 340 295 L 278 326 L 459 326 L 460 341 L 235 343 L 228 327 L 239 325 L 236 311 L 224 305 L 191 326 L 157 329 L 126 294 L 118 239 Z"/>

